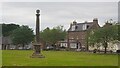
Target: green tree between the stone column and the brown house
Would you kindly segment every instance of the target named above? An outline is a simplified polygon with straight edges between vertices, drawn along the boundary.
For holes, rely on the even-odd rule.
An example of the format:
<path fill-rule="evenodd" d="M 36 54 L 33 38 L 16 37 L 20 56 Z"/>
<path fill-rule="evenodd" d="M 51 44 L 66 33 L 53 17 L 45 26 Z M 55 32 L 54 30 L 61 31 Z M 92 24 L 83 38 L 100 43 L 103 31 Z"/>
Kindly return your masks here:
<path fill-rule="evenodd" d="M 46 43 L 55 45 L 58 41 L 65 39 L 66 31 L 63 30 L 63 26 L 57 26 L 53 29 L 47 27 L 40 33 L 40 37 Z"/>

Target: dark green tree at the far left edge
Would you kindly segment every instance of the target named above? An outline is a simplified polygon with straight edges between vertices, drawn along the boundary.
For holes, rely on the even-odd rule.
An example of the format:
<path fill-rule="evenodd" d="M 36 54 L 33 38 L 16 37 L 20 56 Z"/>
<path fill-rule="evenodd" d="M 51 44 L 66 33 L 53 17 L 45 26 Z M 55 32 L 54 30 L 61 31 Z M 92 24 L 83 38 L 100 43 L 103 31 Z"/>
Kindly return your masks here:
<path fill-rule="evenodd" d="M 10 36 L 12 31 L 17 28 L 19 28 L 19 25 L 17 24 L 2 24 L 2 35 L 4 37 Z"/>

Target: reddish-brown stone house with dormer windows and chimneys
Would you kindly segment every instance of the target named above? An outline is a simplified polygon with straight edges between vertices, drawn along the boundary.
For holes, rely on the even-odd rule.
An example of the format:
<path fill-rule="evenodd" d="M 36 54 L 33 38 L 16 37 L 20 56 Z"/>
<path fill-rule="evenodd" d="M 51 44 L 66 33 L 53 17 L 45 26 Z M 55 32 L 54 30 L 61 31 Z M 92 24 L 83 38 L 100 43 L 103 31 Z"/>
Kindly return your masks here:
<path fill-rule="evenodd" d="M 67 39 L 60 43 L 60 46 L 67 46 L 68 49 L 88 50 L 87 33 L 93 29 L 99 28 L 98 19 L 94 18 L 92 22 L 78 23 L 73 21 L 68 29 Z"/>

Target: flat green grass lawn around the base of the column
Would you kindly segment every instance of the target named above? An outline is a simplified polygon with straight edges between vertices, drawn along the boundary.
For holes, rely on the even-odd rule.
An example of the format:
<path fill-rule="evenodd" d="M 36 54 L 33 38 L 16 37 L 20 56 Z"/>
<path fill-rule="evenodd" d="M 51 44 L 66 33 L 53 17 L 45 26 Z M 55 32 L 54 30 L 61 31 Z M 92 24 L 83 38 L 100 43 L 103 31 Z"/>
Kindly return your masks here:
<path fill-rule="evenodd" d="M 30 58 L 32 50 L 3 50 L 3 66 L 118 66 L 118 55 L 88 52 L 43 51 L 45 58 Z"/>

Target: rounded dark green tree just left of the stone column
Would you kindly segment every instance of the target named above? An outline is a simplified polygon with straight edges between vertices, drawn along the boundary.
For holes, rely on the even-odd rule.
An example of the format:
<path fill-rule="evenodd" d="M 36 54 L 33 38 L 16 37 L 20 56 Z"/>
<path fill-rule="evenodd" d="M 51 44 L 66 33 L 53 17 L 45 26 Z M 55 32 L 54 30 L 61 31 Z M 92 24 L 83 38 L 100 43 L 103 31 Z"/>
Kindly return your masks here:
<path fill-rule="evenodd" d="M 31 41 L 33 41 L 33 38 L 33 30 L 28 26 L 21 26 L 20 28 L 15 29 L 11 35 L 13 44 L 21 44 L 23 48 L 26 44 L 29 44 Z"/>

